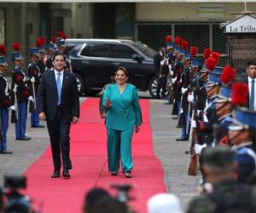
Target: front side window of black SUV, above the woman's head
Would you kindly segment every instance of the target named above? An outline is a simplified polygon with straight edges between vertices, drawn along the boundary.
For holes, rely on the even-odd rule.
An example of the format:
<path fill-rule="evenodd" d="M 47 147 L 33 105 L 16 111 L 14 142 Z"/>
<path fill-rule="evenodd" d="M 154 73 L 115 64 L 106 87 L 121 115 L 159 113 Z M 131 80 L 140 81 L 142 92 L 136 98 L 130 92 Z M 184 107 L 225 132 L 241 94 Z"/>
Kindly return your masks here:
<path fill-rule="evenodd" d="M 137 54 L 136 51 L 122 44 L 111 45 L 110 57 L 121 59 L 132 59 L 132 55 Z"/>

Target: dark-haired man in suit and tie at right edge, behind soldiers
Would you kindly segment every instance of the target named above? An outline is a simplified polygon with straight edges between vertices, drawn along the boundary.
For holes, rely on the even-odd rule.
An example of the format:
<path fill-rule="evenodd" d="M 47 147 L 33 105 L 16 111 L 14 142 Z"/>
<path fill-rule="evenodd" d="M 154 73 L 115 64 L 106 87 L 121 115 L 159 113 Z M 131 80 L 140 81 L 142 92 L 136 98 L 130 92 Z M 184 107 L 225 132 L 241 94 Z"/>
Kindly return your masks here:
<path fill-rule="evenodd" d="M 250 60 L 247 62 L 247 84 L 249 89 L 247 107 L 251 110 L 256 110 L 256 61 Z"/>

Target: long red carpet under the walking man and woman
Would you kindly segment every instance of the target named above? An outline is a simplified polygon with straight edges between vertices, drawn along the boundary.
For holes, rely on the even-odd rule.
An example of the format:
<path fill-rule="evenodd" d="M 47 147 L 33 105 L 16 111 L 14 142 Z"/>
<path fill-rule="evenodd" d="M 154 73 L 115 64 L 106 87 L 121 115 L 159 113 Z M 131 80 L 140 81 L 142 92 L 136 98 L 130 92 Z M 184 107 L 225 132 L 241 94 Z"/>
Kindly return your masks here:
<path fill-rule="evenodd" d="M 51 179 L 53 171 L 50 148 L 25 172 L 28 184 L 26 193 L 43 204 L 43 213 L 79 213 L 84 194 L 92 187 L 109 190 L 113 183 L 129 183 L 133 190 L 132 207 L 139 213 L 146 212 L 147 199 L 155 193 L 166 192 L 164 174 L 160 161 L 154 157 L 152 132 L 149 123 L 149 101 L 141 100 L 143 125 L 134 134 L 132 153 L 134 156 L 133 178 L 127 179 L 108 174 L 106 129 L 99 117 L 98 99 L 87 99 L 81 105 L 79 124 L 71 128 L 71 179 Z M 111 190 L 110 190 L 111 191 Z M 114 193 L 114 191 L 111 191 Z"/>

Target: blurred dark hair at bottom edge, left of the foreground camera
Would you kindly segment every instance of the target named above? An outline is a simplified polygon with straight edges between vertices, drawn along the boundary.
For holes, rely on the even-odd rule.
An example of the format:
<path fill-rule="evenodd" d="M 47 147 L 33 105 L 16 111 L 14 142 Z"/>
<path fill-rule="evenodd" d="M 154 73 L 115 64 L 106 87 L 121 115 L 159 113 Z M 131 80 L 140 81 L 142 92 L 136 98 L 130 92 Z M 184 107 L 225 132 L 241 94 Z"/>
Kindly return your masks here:
<path fill-rule="evenodd" d="M 84 198 L 84 213 L 89 213 L 96 204 L 100 204 L 105 199 L 109 199 L 109 193 L 103 188 L 93 188 L 91 189 Z"/>

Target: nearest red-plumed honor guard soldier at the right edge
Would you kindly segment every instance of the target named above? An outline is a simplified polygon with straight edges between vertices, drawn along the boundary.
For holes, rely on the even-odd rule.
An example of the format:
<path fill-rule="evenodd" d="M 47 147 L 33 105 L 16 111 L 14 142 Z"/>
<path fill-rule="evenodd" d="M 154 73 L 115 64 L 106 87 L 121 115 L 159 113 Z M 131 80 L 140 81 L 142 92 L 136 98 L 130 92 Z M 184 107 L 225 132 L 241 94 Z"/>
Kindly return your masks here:
<path fill-rule="evenodd" d="M 246 83 L 233 83 L 233 105 L 246 106 L 248 87 Z M 256 112 L 247 107 L 236 107 L 233 112 L 232 124 L 228 127 L 230 144 L 235 152 L 238 163 L 238 181 L 246 182 L 247 178 L 256 170 L 256 153 L 254 150 L 254 136 L 256 130 Z"/>

